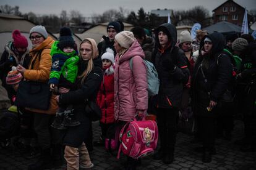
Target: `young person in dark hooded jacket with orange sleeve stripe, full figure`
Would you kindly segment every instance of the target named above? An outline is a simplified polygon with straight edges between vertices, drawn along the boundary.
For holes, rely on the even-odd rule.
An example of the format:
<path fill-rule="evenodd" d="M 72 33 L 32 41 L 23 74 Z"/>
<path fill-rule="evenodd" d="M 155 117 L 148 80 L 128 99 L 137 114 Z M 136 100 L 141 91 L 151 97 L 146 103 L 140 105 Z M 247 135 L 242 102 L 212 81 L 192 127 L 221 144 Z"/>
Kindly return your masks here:
<path fill-rule="evenodd" d="M 178 107 L 184 84 L 189 79 L 186 56 L 175 46 L 176 41 L 177 30 L 174 25 L 164 23 L 156 29 L 156 47 L 152 59 L 160 79 L 156 107 L 161 147 L 154 159 L 162 159 L 165 164 L 174 160 Z"/>

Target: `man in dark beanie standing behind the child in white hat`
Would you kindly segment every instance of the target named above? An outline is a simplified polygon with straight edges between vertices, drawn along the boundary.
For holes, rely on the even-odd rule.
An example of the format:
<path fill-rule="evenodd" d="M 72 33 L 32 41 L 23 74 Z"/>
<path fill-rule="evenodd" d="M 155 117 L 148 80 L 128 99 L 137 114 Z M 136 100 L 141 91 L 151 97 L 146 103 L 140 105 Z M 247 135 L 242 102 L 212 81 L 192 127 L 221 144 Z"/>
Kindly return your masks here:
<path fill-rule="evenodd" d="M 111 48 L 116 56 L 116 49 L 114 49 L 114 36 L 121 31 L 121 25 L 119 22 L 109 22 L 106 28 L 108 36 L 103 36 L 103 40 L 98 43 L 99 56 L 106 52 L 107 48 Z"/>

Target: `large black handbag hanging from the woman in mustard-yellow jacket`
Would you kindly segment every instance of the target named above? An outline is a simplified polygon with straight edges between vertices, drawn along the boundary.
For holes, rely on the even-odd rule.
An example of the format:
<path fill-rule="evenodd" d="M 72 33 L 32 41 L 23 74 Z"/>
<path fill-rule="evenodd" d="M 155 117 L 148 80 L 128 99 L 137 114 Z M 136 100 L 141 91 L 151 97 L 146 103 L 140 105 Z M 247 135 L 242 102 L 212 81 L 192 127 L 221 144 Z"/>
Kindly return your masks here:
<path fill-rule="evenodd" d="M 49 84 L 35 81 L 22 81 L 19 84 L 15 105 L 18 107 L 48 110 L 51 97 Z"/>

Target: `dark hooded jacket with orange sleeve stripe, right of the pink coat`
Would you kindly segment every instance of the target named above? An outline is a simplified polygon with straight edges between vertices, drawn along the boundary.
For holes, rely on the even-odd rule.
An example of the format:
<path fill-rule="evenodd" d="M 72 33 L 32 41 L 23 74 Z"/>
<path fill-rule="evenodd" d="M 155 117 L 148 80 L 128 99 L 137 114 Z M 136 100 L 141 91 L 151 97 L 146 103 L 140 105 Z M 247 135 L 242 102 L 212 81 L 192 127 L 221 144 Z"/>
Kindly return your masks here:
<path fill-rule="evenodd" d="M 189 79 L 189 69 L 187 68 L 186 55 L 175 46 L 177 41 L 177 30 L 175 26 L 164 23 L 159 28 L 165 28 L 171 37 L 171 46 L 163 53 L 160 49 L 158 35 L 156 34 L 156 48 L 153 63 L 158 71 L 160 88 L 157 95 L 157 107 L 173 108 L 179 107 L 182 99 L 184 84 Z M 159 29 L 158 28 L 158 29 Z M 174 70 L 163 67 L 163 63 L 170 60 L 174 63 Z"/>

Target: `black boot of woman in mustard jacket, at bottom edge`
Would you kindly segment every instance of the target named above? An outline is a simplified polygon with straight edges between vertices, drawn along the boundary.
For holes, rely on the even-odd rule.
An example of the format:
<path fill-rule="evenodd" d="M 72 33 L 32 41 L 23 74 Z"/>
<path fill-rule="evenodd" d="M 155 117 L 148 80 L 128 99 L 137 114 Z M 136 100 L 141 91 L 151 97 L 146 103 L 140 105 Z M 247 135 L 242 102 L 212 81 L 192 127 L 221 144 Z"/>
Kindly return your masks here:
<path fill-rule="evenodd" d="M 42 150 L 42 153 L 38 160 L 28 166 L 28 170 L 41 170 L 51 168 L 51 149 L 46 148 Z"/>

